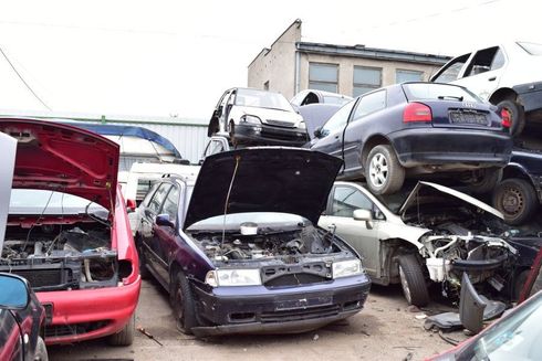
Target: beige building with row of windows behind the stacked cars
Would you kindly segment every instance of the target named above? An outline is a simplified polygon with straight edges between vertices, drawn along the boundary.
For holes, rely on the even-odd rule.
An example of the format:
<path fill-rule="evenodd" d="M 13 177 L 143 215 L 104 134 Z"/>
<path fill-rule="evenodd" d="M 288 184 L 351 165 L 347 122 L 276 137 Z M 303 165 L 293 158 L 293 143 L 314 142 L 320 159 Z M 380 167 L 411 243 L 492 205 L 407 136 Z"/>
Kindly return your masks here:
<path fill-rule="evenodd" d="M 449 56 L 301 41 L 295 20 L 248 67 L 248 86 L 282 93 L 286 98 L 303 89 L 357 96 L 409 81 L 428 81 Z"/>

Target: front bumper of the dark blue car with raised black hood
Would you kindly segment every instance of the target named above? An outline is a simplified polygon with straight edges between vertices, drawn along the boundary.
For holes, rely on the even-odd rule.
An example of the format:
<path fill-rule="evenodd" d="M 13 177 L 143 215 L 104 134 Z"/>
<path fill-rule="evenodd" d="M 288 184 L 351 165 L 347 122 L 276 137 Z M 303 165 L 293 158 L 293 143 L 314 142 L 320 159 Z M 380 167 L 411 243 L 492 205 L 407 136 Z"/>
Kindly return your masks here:
<path fill-rule="evenodd" d="M 194 287 L 204 323 L 194 335 L 304 332 L 362 310 L 371 288 L 367 275 L 296 287 Z"/>

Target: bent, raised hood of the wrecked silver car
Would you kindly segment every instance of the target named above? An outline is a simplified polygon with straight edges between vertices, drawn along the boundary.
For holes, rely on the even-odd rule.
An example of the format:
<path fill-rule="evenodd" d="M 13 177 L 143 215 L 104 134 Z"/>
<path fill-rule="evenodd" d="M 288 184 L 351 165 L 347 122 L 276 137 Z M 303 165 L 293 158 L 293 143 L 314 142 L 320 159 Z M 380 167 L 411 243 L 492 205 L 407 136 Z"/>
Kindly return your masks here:
<path fill-rule="evenodd" d="M 427 203 L 427 201 L 421 201 L 420 198 L 432 198 L 430 194 L 424 194 L 424 190 L 425 189 L 431 189 L 432 191 L 437 191 L 437 192 L 441 192 L 441 193 L 445 193 L 445 194 L 448 194 L 448 195 L 451 195 L 451 197 L 455 197 L 470 205 L 473 205 L 484 212 L 488 212 L 497 217 L 499 217 L 500 220 L 503 220 L 503 215 L 501 212 L 499 212 L 498 210 L 496 210 L 494 208 L 483 203 L 483 202 L 480 202 L 479 200 L 468 195 L 468 194 L 465 194 L 465 193 L 461 193 L 459 191 L 456 191 L 451 188 L 448 188 L 448 187 L 445 187 L 445 185 L 440 185 L 440 184 L 436 184 L 436 183 L 431 183 L 431 182 L 423 182 L 423 181 L 419 181 L 416 187 L 413 189 L 413 191 L 410 192 L 410 194 L 408 194 L 407 199 L 405 200 L 405 202 L 403 203 L 403 205 L 400 206 L 399 209 L 399 214 L 400 215 L 404 215 L 405 212 L 410 208 L 410 206 L 417 206 L 417 204 L 420 204 L 420 206 L 424 205 L 424 203 Z M 421 195 L 420 195 L 421 194 Z"/>

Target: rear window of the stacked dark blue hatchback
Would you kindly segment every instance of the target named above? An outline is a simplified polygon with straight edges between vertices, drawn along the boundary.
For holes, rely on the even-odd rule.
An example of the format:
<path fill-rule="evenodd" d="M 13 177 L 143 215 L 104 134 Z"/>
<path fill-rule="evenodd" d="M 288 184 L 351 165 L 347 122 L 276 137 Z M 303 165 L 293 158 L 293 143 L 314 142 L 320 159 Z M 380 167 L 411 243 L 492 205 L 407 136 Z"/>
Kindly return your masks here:
<path fill-rule="evenodd" d="M 459 100 L 476 102 L 482 100 L 466 88 L 448 84 L 431 83 L 405 83 L 403 89 L 409 102 L 416 100 Z"/>

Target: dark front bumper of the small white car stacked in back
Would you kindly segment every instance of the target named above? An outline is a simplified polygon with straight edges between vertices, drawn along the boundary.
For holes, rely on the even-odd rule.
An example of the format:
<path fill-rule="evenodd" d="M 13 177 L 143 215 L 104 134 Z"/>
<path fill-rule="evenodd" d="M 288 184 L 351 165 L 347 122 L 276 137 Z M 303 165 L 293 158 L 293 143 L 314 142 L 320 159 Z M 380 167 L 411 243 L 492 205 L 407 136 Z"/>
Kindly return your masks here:
<path fill-rule="evenodd" d="M 236 125 L 236 138 L 242 142 L 258 141 L 277 146 L 302 146 L 309 141 L 304 129 L 242 123 Z"/>

